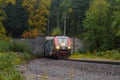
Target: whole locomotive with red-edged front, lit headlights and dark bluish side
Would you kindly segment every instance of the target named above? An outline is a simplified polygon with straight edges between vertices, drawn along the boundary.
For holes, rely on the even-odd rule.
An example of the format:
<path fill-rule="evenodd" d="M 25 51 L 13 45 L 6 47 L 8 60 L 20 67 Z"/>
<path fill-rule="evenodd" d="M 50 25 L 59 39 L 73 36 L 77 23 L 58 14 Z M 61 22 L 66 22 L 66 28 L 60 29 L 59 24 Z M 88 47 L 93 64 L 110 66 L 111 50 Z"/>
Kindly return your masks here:
<path fill-rule="evenodd" d="M 71 40 L 67 36 L 56 36 L 47 40 L 44 45 L 44 55 L 65 59 L 71 55 Z"/>

